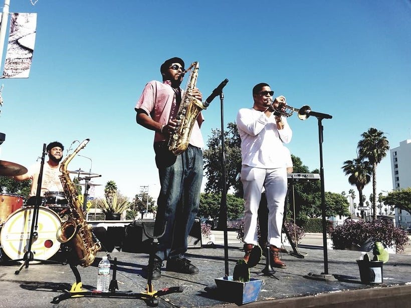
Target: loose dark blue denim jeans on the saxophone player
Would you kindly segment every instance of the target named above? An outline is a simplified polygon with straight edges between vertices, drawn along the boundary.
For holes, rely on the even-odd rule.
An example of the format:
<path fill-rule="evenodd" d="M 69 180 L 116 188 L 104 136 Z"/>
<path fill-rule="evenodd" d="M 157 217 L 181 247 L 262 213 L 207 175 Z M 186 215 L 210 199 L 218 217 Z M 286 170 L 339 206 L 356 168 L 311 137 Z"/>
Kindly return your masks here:
<path fill-rule="evenodd" d="M 154 151 L 161 185 L 154 234 L 158 236 L 164 231 L 156 256 L 167 260 L 187 251 L 187 237 L 200 202 L 202 150 L 188 145 L 183 153 L 171 156 L 167 144 L 158 142 Z"/>

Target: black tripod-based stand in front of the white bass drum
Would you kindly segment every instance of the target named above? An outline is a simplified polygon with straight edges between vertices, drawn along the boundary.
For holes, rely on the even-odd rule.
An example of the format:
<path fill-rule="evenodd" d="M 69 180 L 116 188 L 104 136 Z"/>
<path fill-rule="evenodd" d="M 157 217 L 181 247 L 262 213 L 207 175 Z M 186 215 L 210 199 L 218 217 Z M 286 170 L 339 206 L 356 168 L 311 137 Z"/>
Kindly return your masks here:
<path fill-rule="evenodd" d="M 34 254 L 36 253 L 35 251 L 32 251 L 32 244 L 33 244 L 33 238 L 36 239 L 39 236 L 39 233 L 37 232 L 37 223 L 39 219 L 39 208 L 40 204 L 42 203 L 42 198 L 41 198 L 41 189 L 42 189 L 42 180 L 43 180 L 43 168 L 44 168 L 44 158 L 46 156 L 46 144 L 43 144 L 43 154 L 42 154 L 42 160 L 40 164 L 40 172 L 39 172 L 39 178 L 37 181 L 37 191 L 36 191 L 36 202 L 33 207 L 32 211 L 32 226 L 30 229 L 30 237 L 29 237 L 29 243 L 27 245 L 27 251 L 25 252 L 23 258 L 21 259 L 15 259 L 15 260 L 10 260 L 10 262 L 19 262 L 19 261 L 24 261 L 22 265 L 19 267 L 18 270 L 15 271 L 15 274 L 18 275 L 20 271 L 23 269 L 23 267 L 29 268 L 30 261 L 38 261 L 38 262 L 45 262 L 46 260 L 41 260 L 41 259 L 35 259 Z M 23 243 L 22 243 L 23 244 Z M 55 264 L 65 264 L 65 262 L 59 262 L 59 261 L 53 261 L 53 260 L 47 260 L 49 263 L 55 263 Z"/>

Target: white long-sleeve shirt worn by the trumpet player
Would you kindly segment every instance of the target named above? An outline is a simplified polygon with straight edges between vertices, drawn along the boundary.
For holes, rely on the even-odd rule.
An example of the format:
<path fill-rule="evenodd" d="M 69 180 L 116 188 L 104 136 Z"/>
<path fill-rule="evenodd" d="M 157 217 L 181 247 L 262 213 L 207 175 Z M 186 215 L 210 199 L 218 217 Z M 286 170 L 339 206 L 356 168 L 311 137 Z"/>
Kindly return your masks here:
<path fill-rule="evenodd" d="M 283 143 L 289 143 L 293 133 L 287 119 L 282 119 L 284 128 L 279 130 L 274 114 L 267 117 L 254 108 L 239 110 L 236 122 L 241 137 L 243 165 L 265 169 L 286 167 L 287 154 Z"/>

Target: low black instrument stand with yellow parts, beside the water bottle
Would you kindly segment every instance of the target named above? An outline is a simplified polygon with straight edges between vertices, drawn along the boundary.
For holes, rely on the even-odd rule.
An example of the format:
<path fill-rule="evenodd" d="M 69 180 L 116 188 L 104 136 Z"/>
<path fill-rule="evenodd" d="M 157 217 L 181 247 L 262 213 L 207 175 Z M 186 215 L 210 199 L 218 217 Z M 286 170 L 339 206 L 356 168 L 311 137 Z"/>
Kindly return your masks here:
<path fill-rule="evenodd" d="M 110 282 L 109 286 L 109 291 L 108 292 L 100 292 L 100 291 L 81 291 L 82 283 L 81 283 L 81 278 L 80 278 L 80 273 L 77 269 L 76 266 L 73 266 L 70 264 L 70 268 L 73 270 L 74 275 L 76 276 L 76 283 L 73 284 L 70 292 L 65 292 L 59 296 L 56 296 L 53 298 L 51 303 L 59 303 L 60 301 L 67 299 L 67 298 L 73 298 L 73 297 L 111 297 L 111 298 L 137 298 L 137 299 L 142 299 L 146 302 L 146 304 L 150 307 L 156 307 L 158 306 L 158 296 L 161 295 L 166 295 L 170 293 L 180 293 L 183 291 L 183 287 L 181 286 L 172 286 L 172 287 L 167 287 L 163 288 L 160 290 L 155 291 L 152 285 L 152 270 L 153 270 L 153 265 L 154 265 L 154 256 L 156 252 L 156 246 L 158 245 L 158 238 L 164 235 L 165 232 L 165 226 L 164 226 L 164 231 L 162 232 L 161 235 L 159 236 L 154 236 L 148 233 L 146 230 L 144 222 L 142 223 L 143 226 L 143 231 L 144 234 L 152 239 L 153 241 L 151 242 L 151 253 L 148 261 L 148 276 L 147 276 L 147 289 L 145 292 L 140 292 L 140 293 L 135 293 L 132 291 L 116 291 L 118 290 L 118 284 L 116 280 L 116 274 L 117 274 L 117 257 L 114 257 L 114 262 L 113 262 L 113 279 Z"/>

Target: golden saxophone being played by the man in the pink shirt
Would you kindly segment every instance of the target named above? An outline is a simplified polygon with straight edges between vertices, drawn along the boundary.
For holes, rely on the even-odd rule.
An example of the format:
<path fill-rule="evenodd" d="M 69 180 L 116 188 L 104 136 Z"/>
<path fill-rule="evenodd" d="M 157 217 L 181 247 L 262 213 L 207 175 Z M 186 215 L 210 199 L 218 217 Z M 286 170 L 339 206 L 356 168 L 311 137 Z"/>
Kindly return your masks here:
<path fill-rule="evenodd" d="M 188 76 L 187 85 L 175 117 L 177 126 L 168 140 L 168 150 L 174 155 L 178 155 L 187 149 L 192 127 L 195 124 L 197 116 L 201 110 L 206 109 L 200 100 L 197 100 L 188 94 L 195 87 L 198 69 L 198 62 L 193 62 L 191 66 L 184 71 L 184 73 L 190 71 L 190 75 Z"/>

